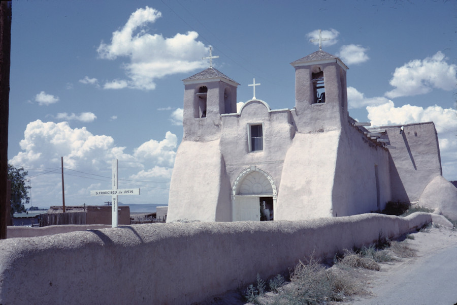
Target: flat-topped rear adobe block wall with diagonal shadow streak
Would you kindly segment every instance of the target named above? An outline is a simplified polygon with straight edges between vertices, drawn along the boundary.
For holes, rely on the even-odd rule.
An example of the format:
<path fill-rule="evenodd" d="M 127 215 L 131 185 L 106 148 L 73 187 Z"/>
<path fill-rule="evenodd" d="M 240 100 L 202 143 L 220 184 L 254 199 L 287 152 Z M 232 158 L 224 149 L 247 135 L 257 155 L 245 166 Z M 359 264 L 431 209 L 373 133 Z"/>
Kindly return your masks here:
<path fill-rule="evenodd" d="M 435 124 L 418 123 L 385 126 L 391 146 L 391 189 L 397 201 L 418 201 L 422 191 L 442 174 L 440 149 Z"/>

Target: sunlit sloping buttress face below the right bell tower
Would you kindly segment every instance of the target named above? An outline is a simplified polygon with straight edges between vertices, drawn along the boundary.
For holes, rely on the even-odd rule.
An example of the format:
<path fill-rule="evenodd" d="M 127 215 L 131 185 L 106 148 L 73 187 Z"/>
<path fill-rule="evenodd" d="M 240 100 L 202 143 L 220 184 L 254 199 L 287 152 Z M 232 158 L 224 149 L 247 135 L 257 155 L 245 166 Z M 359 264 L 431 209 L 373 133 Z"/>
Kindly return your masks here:
<path fill-rule="evenodd" d="M 284 159 L 275 220 L 332 217 L 340 131 L 297 133 Z"/>

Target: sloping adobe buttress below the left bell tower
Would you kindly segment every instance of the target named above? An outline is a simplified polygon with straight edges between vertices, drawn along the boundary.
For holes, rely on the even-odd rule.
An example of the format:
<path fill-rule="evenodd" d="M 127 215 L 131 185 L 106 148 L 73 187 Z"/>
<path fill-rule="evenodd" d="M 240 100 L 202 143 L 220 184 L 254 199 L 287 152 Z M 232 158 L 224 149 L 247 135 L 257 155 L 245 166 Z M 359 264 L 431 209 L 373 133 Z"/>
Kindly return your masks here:
<path fill-rule="evenodd" d="M 219 141 L 183 140 L 170 182 L 167 222 L 231 221 L 230 189 Z"/>

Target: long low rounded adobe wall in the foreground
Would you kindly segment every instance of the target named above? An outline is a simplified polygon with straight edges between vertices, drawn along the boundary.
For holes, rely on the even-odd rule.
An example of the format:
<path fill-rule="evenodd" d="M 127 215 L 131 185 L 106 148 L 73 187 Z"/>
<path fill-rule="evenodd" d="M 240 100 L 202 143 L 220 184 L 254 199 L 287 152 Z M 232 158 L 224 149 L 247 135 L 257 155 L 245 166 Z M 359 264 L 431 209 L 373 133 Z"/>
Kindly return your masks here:
<path fill-rule="evenodd" d="M 257 273 L 267 279 L 311 255 L 333 258 L 369 245 L 381 232 L 396 238 L 430 222 L 426 213 L 364 214 L 144 224 L 4 239 L 0 303 L 190 304 L 243 287 Z"/>

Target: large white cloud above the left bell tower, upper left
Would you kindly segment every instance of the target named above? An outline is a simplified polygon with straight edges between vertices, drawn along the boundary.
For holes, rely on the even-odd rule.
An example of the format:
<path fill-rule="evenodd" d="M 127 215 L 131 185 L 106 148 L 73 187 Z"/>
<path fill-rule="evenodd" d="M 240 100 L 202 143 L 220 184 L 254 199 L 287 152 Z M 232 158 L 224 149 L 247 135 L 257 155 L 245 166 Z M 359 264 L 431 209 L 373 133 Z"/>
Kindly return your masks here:
<path fill-rule="evenodd" d="M 208 48 L 197 41 L 197 32 L 178 33 L 169 38 L 148 33 L 147 25 L 160 17 L 161 13 L 153 8 L 138 9 L 122 28 L 113 32 L 111 43 L 100 44 L 97 52 L 101 58 L 129 60 L 122 65 L 127 79 L 108 82 L 104 88 L 151 90 L 157 78 L 206 66 L 201 58 L 208 53 Z"/>

